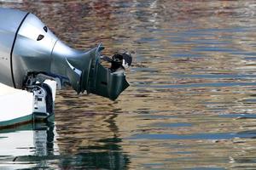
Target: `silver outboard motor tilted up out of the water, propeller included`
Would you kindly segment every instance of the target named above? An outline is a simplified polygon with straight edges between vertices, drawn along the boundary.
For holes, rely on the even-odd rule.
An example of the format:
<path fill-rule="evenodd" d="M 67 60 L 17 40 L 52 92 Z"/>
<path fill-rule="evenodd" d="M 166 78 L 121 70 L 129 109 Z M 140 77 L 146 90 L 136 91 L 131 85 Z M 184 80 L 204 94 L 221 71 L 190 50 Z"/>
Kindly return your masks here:
<path fill-rule="evenodd" d="M 0 82 L 27 89 L 53 79 L 60 88 L 69 83 L 79 94 L 117 99 L 129 86 L 125 68 L 131 54 L 102 56 L 102 44 L 89 51 L 69 48 L 37 16 L 0 8 Z M 102 59 L 111 63 L 105 68 Z"/>

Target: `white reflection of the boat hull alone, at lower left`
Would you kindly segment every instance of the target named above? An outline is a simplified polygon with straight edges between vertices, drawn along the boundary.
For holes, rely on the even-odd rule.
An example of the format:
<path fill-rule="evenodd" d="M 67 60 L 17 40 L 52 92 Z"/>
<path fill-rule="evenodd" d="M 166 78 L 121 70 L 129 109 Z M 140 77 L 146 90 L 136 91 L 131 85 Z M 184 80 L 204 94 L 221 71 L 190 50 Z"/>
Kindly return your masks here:
<path fill-rule="evenodd" d="M 53 123 L 28 123 L 15 128 L 0 130 L 0 169 L 41 167 L 47 162 L 42 158 L 58 156 Z M 38 164 L 32 158 L 40 160 Z M 26 162 L 26 163 L 25 163 Z"/>

